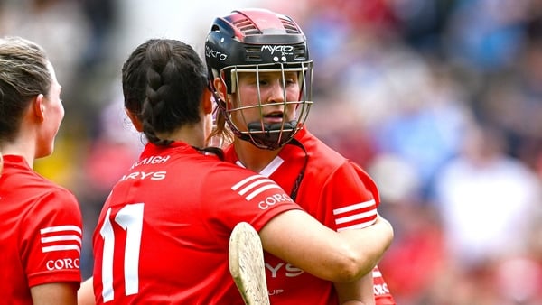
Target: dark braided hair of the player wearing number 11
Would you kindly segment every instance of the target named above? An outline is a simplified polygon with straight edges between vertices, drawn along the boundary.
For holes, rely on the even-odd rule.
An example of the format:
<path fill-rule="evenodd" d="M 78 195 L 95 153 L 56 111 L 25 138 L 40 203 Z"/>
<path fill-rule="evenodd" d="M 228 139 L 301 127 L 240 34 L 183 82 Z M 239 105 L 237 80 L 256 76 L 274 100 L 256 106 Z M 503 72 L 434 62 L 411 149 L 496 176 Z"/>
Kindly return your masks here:
<path fill-rule="evenodd" d="M 169 133 L 200 122 L 207 73 L 200 56 L 186 43 L 152 39 L 139 45 L 122 68 L 125 106 L 143 125 L 147 140 L 169 145 Z"/>

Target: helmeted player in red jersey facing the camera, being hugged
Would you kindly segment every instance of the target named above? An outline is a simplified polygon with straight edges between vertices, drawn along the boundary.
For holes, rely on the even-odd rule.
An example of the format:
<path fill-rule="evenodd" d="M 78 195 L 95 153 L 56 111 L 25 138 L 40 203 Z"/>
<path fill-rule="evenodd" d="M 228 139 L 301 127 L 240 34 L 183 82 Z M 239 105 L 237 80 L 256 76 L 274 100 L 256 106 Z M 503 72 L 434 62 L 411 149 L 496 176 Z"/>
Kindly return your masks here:
<path fill-rule="evenodd" d="M 340 233 L 371 226 L 378 188 L 360 166 L 310 134 L 313 61 L 294 20 L 263 9 L 216 18 L 205 42 L 220 112 L 216 133 L 233 143 L 226 161 L 275 180 L 299 205 Z M 225 124 L 227 123 L 228 126 Z M 377 238 L 377 236 L 375 236 Z M 333 283 L 272 254 L 265 256 L 272 304 L 395 304 L 376 267 L 360 282 Z M 374 278 L 374 282 L 373 282 Z M 374 294 L 374 296 L 373 296 Z"/>

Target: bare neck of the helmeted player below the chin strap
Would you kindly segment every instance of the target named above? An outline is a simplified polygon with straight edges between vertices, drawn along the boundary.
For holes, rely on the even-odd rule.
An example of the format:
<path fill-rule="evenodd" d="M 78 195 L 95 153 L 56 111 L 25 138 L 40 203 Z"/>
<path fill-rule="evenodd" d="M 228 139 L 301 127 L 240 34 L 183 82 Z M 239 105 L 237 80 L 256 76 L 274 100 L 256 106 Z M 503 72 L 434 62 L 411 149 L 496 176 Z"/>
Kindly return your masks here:
<path fill-rule="evenodd" d="M 239 162 L 249 170 L 256 172 L 265 169 L 281 150 L 280 148 L 275 151 L 257 148 L 252 143 L 238 138 L 233 142 L 233 147 L 238 155 Z"/>

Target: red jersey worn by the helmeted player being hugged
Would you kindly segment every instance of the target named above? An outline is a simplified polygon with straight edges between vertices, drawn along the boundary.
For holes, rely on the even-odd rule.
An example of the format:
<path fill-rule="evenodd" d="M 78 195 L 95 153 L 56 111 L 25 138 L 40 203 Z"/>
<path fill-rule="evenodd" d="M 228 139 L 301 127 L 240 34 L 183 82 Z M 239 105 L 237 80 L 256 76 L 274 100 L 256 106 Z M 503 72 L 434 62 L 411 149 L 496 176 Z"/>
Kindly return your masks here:
<path fill-rule="evenodd" d="M 226 161 L 242 166 L 231 145 L 225 156 Z M 275 180 L 304 210 L 333 230 L 370 226 L 377 218 L 379 196 L 374 181 L 360 166 L 306 129 L 296 134 L 294 141 L 286 144 L 260 174 Z M 332 282 L 304 273 L 271 254 L 265 254 L 265 261 L 272 304 L 337 304 Z M 395 304 L 378 267 L 373 270 L 373 278 L 377 304 Z"/>

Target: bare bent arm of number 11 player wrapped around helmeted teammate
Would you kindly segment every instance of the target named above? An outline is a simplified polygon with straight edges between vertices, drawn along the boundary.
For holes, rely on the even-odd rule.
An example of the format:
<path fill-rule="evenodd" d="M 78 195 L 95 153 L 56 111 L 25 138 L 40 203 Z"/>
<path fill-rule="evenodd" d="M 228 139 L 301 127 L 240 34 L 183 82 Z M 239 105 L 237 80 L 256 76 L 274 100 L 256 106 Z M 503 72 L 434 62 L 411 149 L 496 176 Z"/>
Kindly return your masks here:
<path fill-rule="evenodd" d="M 373 226 L 338 233 L 302 210 L 290 210 L 271 219 L 259 235 L 267 252 L 305 272 L 332 282 L 352 282 L 378 263 L 391 245 L 393 229 L 380 219 Z"/>

